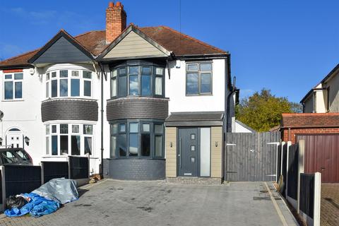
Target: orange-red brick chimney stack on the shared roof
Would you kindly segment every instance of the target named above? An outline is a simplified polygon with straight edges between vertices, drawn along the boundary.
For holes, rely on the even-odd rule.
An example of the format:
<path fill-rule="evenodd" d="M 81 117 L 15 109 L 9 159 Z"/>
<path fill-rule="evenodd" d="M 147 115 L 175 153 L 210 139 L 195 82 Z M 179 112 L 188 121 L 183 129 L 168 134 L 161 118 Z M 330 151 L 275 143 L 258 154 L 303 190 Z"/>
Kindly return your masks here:
<path fill-rule="evenodd" d="M 106 42 L 112 42 L 126 28 L 126 12 L 120 1 L 111 1 L 106 9 Z"/>

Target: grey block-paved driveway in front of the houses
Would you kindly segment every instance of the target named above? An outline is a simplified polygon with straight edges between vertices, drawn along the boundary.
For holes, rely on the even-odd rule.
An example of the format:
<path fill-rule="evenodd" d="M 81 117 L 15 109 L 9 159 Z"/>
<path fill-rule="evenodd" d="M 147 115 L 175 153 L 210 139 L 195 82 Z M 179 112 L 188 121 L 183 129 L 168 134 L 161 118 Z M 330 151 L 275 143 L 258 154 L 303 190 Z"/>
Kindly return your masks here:
<path fill-rule="evenodd" d="M 267 185 L 107 179 L 84 186 L 78 201 L 56 213 L 41 218 L 3 218 L 0 225 L 297 225 L 273 185 Z"/>

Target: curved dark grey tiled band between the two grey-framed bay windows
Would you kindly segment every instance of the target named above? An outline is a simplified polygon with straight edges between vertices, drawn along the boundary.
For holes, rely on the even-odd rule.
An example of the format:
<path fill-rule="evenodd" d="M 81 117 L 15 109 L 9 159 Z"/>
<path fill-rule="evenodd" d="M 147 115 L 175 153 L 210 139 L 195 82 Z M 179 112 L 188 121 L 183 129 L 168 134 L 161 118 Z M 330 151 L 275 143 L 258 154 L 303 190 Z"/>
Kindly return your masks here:
<path fill-rule="evenodd" d="M 154 97 L 123 97 L 107 101 L 107 120 L 161 119 L 168 116 L 168 99 Z"/>

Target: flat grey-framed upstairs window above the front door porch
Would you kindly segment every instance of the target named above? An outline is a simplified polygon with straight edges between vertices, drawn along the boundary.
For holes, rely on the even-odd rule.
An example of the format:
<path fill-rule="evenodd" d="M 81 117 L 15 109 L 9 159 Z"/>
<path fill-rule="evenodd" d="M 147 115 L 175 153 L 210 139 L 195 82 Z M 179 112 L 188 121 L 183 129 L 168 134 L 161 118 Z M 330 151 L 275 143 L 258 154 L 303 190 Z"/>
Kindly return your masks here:
<path fill-rule="evenodd" d="M 186 64 L 186 95 L 212 94 L 212 63 Z"/>

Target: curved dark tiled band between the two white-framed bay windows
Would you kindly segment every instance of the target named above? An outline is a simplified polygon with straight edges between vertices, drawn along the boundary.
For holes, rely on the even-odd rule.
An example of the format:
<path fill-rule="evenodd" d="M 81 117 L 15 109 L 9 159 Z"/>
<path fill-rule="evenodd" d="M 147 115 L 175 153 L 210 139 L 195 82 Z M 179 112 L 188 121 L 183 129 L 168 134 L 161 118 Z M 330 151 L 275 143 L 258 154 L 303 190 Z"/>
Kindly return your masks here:
<path fill-rule="evenodd" d="M 46 100 L 41 105 L 42 121 L 85 120 L 97 121 L 96 100 L 57 99 Z"/>

